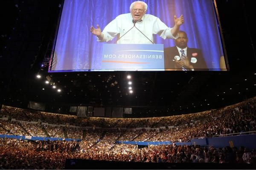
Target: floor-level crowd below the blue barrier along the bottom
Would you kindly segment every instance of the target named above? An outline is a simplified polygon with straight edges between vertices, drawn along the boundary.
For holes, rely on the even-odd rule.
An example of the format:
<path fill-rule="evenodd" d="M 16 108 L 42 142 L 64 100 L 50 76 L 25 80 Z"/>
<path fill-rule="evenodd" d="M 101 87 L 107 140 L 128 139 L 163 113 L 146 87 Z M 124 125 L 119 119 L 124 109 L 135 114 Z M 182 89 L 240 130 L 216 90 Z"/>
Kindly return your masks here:
<path fill-rule="evenodd" d="M 256 163 L 256 150 L 244 147 L 131 144 L 82 148 L 78 142 L 0 139 L 1 169 L 64 169 L 66 159 L 169 163 Z"/>

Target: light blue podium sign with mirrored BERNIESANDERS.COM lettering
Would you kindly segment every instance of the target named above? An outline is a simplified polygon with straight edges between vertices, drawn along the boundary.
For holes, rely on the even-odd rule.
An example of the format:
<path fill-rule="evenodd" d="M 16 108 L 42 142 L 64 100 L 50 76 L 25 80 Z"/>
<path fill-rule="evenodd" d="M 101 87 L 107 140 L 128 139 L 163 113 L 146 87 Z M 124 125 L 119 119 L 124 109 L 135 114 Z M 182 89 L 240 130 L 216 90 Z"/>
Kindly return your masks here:
<path fill-rule="evenodd" d="M 163 44 L 104 44 L 101 69 L 164 71 Z"/>

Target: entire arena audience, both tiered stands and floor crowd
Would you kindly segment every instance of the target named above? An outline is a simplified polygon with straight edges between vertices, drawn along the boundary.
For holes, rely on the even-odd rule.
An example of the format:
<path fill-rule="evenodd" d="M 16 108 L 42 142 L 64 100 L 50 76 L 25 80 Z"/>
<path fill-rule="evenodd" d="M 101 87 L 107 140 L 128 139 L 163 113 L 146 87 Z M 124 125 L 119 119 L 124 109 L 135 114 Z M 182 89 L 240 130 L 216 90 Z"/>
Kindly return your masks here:
<path fill-rule="evenodd" d="M 32 116 L 34 113 L 35 116 Z M 2 107 L 0 116 L 0 134 L 82 139 L 81 142 L 0 139 L 0 169 L 63 169 L 65 160 L 71 158 L 169 163 L 256 163 L 255 150 L 244 147 L 172 144 L 138 148 L 132 144 L 116 143 L 175 143 L 196 138 L 255 133 L 256 98 L 202 113 L 143 119 L 77 118 L 8 106 Z"/>

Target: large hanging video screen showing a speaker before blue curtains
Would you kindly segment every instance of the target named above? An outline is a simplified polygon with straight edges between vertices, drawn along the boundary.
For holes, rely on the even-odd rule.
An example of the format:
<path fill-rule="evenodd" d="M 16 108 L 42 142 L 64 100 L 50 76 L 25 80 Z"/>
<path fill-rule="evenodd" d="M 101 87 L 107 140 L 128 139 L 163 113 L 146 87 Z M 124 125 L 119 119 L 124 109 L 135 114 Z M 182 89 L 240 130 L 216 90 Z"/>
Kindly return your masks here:
<path fill-rule="evenodd" d="M 227 71 L 213 0 L 143 2 L 64 0 L 49 72 Z"/>

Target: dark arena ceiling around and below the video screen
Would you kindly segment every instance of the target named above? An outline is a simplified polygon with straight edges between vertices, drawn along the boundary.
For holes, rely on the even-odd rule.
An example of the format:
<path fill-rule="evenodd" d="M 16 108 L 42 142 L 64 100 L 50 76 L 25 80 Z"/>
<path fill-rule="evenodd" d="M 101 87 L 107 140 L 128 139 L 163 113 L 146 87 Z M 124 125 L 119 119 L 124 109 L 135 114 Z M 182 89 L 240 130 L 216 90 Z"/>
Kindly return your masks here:
<path fill-rule="evenodd" d="M 43 102 L 47 111 L 59 113 L 67 113 L 70 105 L 132 107 L 131 116 L 148 117 L 221 108 L 256 96 L 255 10 L 250 0 L 217 0 L 230 65 L 226 72 L 48 73 L 60 4 L 1 1 L 0 103 L 26 108 L 28 101 Z M 128 74 L 133 94 L 128 92 Z M 46 77 L 60 93 L 45 84 Z"/>

